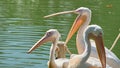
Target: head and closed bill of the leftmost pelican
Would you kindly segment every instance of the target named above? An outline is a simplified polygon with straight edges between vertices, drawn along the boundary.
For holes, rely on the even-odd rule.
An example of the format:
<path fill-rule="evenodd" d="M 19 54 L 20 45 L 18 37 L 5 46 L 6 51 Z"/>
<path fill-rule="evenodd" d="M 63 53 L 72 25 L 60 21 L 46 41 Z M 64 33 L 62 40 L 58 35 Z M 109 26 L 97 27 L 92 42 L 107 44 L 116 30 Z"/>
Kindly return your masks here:
<path fill-rule="evenodd" d="M 60 33 L 56 29 L 50 29 L 46 32 L 46 34 L 37 42 L 34 44 L 34 46 L 29 49 L 28 53 L 31 53 L 34 49 L 42 45 L 46 42 L 55 42 L 55 40 L 59 40 Z"/>

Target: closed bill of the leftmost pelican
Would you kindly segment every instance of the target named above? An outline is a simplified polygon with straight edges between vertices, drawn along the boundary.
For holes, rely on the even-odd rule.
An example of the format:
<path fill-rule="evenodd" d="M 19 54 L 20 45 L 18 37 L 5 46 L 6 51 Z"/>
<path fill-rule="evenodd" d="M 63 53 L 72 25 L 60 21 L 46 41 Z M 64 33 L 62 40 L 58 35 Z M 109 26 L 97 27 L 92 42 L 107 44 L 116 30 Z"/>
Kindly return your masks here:
<path fill-rule="evenodd" d="M 43 36 L 38 42 L 36 42 L 32 48 L 29 49 L 28 53 L 31 53 L 33 50 L 35 50 L 36 48 L 38 48 L 39 46 L 41 46 L 42 44 L 46 43 L 50 41 L 50 37 L 45 35 Z"/>

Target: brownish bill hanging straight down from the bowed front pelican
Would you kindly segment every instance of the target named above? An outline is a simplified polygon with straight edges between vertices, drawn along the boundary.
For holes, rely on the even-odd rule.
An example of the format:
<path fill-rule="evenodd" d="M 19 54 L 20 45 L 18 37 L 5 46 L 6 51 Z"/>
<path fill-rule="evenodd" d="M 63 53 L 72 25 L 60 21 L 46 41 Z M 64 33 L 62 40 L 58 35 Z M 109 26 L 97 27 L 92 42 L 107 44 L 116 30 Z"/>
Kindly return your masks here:
<path fill-rule="evenodd" d="M 95 42 L 102 68 L 106 68 L 106 54 L 102 36 L 97 36 Z"/>

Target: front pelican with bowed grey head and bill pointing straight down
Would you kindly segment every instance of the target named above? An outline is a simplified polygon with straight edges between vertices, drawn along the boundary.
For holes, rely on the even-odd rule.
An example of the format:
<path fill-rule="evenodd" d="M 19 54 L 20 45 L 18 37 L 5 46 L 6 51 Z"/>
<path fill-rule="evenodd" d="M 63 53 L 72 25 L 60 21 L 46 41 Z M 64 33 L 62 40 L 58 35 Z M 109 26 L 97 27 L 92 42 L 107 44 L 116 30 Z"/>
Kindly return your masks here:
<path fill-rule="evenodd" d="M 69 34 L 71 35 L 71 34 Z M 68 68 L 111 68 L 109 65 L 106 67 L 106 55 L 103 43 L 103 31 L 98 25 L 90 25 L 83 32 L 83 46 L 85 47 L 82 54 L 74 55 L 70 58 Z M 91 42 L 93 39 L 96 43 L 96 49 L 100 61 L 95 57 L 90 57 Z M 102 57 L 102 58 L 101 58 Z"/>

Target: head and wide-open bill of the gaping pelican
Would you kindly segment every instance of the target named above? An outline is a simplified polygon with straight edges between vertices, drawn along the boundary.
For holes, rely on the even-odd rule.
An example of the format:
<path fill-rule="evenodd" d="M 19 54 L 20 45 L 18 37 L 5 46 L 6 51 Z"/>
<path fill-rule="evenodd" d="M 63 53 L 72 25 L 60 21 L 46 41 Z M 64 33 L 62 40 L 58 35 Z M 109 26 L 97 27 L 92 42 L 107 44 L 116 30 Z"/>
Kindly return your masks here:
<path fill-rule="evenodd" d="M 91 21 L 91 10 L 87 7 L 80 7 L 78 9 L 71 10 L 71 11 L 63 11 L 63 12 L 50 14 L 50 15 L 44 16 L 44 18 L 61 15 L 61 14 L 68 14 L 68 13 L 78 14 L 78 17 L 75 19 L 70 29 L 70 32 L 66 38 L 65 43 L 67 43 L 71 39 L 71 37 L 75 34 L 78 28 L 82 26 L 82 24 L 86 23 L 85 25 L 88 25 Z"/>

